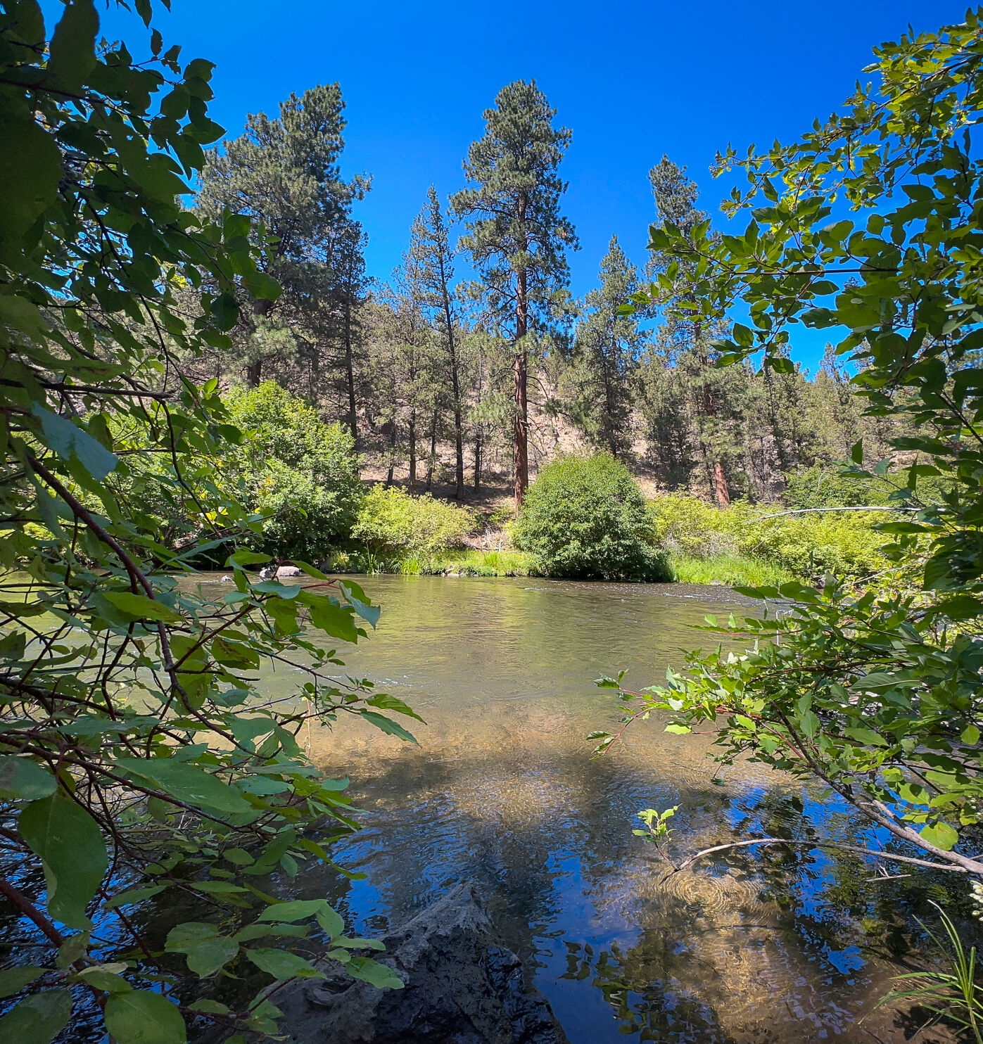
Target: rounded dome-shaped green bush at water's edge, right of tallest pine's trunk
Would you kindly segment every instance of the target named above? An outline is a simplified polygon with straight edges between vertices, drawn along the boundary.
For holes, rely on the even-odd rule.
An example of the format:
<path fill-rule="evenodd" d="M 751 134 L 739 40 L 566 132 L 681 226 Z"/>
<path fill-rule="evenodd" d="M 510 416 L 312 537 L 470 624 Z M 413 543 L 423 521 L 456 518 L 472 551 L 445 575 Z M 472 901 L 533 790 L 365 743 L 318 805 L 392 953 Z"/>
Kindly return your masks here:
<path fill-rule="evenodd" d="M 607 454 L 546 465 L 525 494 L 514 536 L 546 576 L 670 578 L 645 496 Z"/>

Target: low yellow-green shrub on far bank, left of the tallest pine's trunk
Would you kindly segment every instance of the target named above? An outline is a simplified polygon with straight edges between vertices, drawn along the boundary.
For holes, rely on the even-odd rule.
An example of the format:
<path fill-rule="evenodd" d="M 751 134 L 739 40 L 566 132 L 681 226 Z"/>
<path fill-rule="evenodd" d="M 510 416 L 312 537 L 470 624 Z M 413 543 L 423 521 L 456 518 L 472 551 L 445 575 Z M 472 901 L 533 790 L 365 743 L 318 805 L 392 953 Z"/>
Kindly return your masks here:
<path fill-rule="evenodd" d="M 359 506 L 352 537 L 377 554 L 425 556 L 464 547 L 474 526 L 465 507 L 428 493 L 411 497 L 396 487 L 375 485 Z"/>

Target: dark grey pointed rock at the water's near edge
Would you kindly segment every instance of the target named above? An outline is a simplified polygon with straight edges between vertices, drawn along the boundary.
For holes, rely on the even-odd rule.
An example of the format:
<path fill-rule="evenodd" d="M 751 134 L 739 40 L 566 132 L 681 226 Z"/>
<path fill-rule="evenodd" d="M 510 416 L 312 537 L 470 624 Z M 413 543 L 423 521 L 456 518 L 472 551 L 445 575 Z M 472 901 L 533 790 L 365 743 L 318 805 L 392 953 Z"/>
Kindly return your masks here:
<path fill-rule="evenodd" d="M 271 1000 L 291 1044 L 567 1044 L 519 958 L 492 934 L 471 884 L 459 884 L 373 954 L 405 982 L 378 990 L 337 973 L 297 979 Z"/>

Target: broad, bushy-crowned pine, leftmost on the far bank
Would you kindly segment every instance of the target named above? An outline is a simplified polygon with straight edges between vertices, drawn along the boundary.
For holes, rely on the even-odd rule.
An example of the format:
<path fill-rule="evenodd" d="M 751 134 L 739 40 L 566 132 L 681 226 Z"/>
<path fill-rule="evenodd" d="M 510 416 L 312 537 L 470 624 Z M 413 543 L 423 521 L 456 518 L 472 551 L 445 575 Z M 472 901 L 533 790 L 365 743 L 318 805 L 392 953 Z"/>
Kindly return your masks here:
<path fill-rule="evenodd" d="M 253 218 L 261 227 L 265 271 L 283 287 L 276 304 L 260 299 L 251 306 L 252 322 L 243 316 L 238 340 L 253 385 L 262 379 L 263 362 L 278 358 L 271 323 L 288 325 L 295 333 L 310 331 L 303 348 L 315 352 L 319 317 L 338 311 L 332 300 L 338 293 L 335 277 L 350 265 L 340 266 L 334 251 L 351 245 L 340 233 L 352 200 L 369 188 L 365 176 L 350 182 L 341 176 L 344 109 L 337 84 L 291 94 L 280 103 L 279 118 L 250 115 L 244 134 L 213 152 L 202 172 L 198 210 L 212 218 L 225 210 Z"/>

